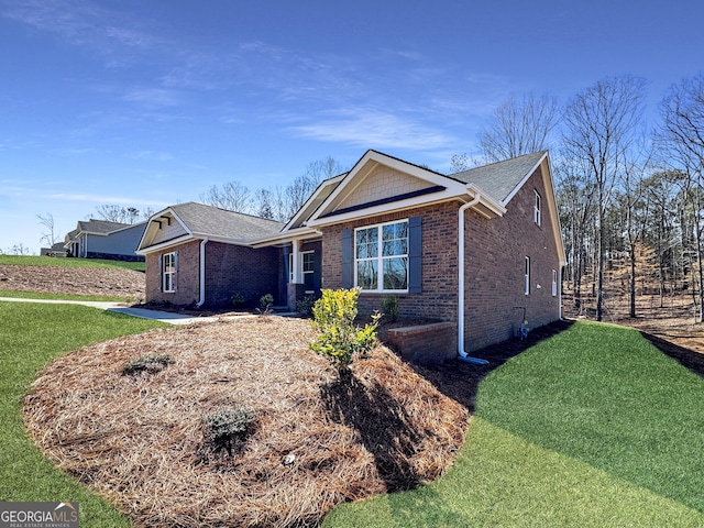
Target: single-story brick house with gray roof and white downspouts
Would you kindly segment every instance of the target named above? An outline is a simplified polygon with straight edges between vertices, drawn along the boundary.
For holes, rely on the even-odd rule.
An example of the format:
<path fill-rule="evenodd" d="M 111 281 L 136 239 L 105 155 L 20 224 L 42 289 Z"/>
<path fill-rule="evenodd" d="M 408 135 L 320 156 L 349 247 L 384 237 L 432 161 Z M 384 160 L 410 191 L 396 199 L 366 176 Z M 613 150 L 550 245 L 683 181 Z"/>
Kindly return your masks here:
<path fill-rule="evenodd" d="M 534 328 L 561 317 L 565 256 L 547 152 L 442 175 L 369 151 L 349 173 L 324 180 L 285 226 L 216 210 L 257 228 L 222 239 L 207 230 L 164 233 L 168 218 L 186 223 L 183 206 L 207 207 L 155 215 L 140 244 L 147 300 L 216 302 L 248 287 L 253 295 L 268 288 L 294 308 L 320 287 L 361 286 L 361 314 L 393 295 L 402 317 L 448 323 L 447 358 L 516 336 L 524 317 Z M 208 263 L 212 241 L 222 245 L 219 275 Z M 177 246 L 177 262 L 165 260 Z M 175 292 L 163 288 L 165 266 L 182 277 Z"/>

